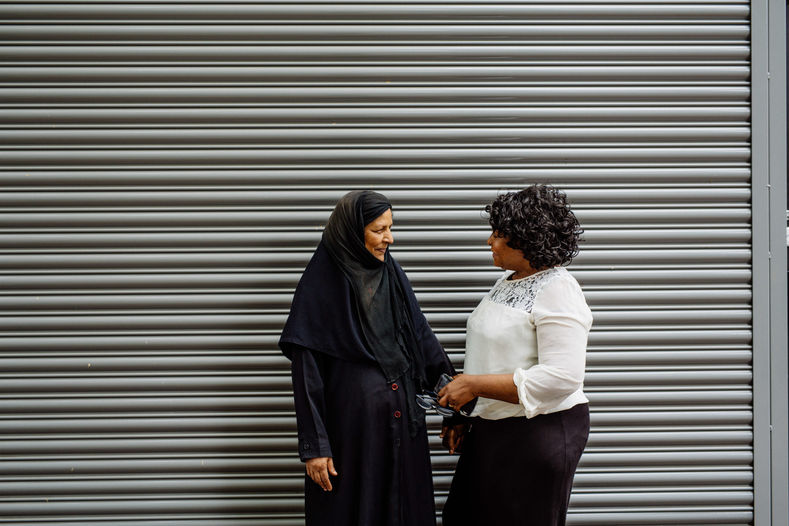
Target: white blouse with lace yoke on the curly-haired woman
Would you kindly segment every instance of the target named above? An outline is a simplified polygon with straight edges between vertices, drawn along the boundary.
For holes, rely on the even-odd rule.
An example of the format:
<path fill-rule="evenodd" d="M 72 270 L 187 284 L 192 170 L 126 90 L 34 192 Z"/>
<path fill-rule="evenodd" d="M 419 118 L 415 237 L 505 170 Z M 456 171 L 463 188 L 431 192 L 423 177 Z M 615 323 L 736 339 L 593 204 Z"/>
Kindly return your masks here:
<path fill-rule="evenodd" d="M 592 312 L 564 267 L 508 280 L 507 271 L 469 316 L 469 375 L 512 374 L 520 404 L 480 397 L 472 416 L 499 420 L 563 411 L 584 396 Z"/>

